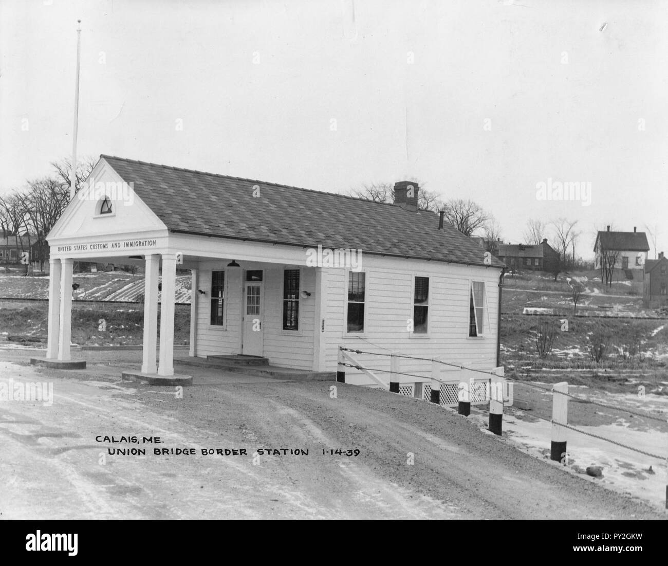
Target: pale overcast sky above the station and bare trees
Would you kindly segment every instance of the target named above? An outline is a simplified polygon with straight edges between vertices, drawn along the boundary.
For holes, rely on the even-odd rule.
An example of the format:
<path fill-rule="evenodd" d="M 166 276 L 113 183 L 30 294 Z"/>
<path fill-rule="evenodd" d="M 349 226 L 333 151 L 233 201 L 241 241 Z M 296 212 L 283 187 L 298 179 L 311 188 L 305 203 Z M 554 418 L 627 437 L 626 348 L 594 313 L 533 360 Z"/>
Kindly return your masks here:
<path fill-rule="evenodd" d="M 667 1 L 0 7 L 0 194 L 71 154 L 80 18 L 79 156 L 328 192 L 416 178 L 504 241 L 567 217 L 584 257 L 608 224 L 657 225 L 668 252 Z M 591 204 L 537 200 L 550 178 Z"/>

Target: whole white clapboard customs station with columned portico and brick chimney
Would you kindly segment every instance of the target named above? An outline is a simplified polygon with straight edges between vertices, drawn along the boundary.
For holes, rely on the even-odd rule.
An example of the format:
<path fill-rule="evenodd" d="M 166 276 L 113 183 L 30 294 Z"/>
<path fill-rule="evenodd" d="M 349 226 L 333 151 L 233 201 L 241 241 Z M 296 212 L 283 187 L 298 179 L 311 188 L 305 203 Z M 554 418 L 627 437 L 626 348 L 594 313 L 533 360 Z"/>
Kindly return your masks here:
<path fill-rule="evenodd" d="M 413 372 L 436 356 L 492 370 L 504 266 L 418 210 L 418 190 L 398 182 L 382 204 L 103 155 L 48 236 L 47 360 L 70 360 L 73 261 L 134 261 L 146 267 L 144 374 L 174 374 L 176 269 L 192 270 L 190 356 L 335 372 L 345 346 L 381 370 L 373 354 L 388 351 L 425 358 Z"/>

